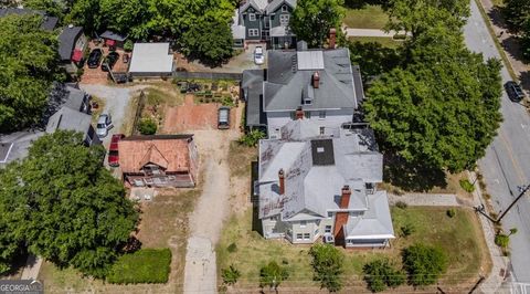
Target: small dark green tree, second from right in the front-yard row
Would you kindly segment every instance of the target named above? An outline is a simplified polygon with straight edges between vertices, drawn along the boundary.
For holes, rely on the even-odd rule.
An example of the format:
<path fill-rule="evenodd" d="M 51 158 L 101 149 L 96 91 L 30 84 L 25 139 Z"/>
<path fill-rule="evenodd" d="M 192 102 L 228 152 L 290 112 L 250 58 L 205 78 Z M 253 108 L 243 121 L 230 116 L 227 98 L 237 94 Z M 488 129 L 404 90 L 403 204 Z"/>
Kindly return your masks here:
<path fill-rule="evenodd" d="M 396 287 L 405 282 L 405 274 L 395 270 L 388 259 L 374 260 L 362 267 L 364 281 L 372 292 L 382 292 L 386 287 Z"/>

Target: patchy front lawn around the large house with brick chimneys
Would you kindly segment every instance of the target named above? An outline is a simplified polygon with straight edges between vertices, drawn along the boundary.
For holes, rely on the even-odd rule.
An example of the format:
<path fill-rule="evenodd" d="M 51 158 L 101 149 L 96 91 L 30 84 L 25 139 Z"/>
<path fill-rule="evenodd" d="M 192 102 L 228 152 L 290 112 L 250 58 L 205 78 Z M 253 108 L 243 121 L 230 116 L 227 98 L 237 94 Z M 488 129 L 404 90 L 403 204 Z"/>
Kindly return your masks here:
<path fill-rule="evenodd" d="M 362 266 L 371 260 L 388 256 L 401 264 L 401 249 L 415 242 L 438 245 L 449 258 L 448 272 L 439 285 L 453 291 L 469 291 L 478 280 L 479 273 L 489 271 L 490 261 L 484 237 L 476 216 L 470 210 L 456 209 L 456 216 L 448 218 L 445 208 L 392 208 L 392 218 L 396 239 L 392 249 L 386 250 L 344 250 L 344 284 L 349 290 L 363 288 Z M 407 238 L 399 237 L 400 228 L 405 223 L 414 224 L 414 232 Z M 235 250 L 229 251 L 234 243 Z M 233 245 L 232 245 L 233 248 Z M 308 255 L 308 245 L 292 245 L 287 241 L 265 240 L 252 230 L 252 211 L 226 223 L 218 252 L 218 270 L 234 264 L 241 271 L 236 286 L 256 287 L 262 265 L 272 260 L 289 271 L 289 279 L 280 288 L 296 286 L 319 286 L 312 282 L 312 269 Z M 220 283 L 222 279 L 219 279 Z M 307 290 L 307 288 L 306 288 Z M 411 291 L 405 286 L 403 291 Z"/>

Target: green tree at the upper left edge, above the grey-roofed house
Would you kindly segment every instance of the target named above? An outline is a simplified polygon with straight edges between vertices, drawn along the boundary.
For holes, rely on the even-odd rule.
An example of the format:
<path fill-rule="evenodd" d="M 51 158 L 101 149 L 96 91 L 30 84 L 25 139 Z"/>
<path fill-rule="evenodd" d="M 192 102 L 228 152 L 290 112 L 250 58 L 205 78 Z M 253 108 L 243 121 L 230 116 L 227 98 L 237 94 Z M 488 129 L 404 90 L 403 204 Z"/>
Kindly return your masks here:
<path fill-rule="evenodd" d="M 41 22 L 40 15 L 0 18 L 0 132 L 38 123 L 57 77 L 56 35 Z"/>

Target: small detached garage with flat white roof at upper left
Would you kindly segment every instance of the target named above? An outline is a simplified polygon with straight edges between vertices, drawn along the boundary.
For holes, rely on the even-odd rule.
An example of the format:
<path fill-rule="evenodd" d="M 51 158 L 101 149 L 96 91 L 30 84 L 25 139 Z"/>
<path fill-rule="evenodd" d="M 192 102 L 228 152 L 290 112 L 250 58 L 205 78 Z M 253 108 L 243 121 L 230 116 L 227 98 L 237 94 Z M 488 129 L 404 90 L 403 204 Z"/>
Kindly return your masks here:
<path fill-rule="evenodd" d="M 173 55 L 169 43 L 136 43 L 132 49 L 129 74 L 132 78 L 165 77 L 173 72 Z"/>

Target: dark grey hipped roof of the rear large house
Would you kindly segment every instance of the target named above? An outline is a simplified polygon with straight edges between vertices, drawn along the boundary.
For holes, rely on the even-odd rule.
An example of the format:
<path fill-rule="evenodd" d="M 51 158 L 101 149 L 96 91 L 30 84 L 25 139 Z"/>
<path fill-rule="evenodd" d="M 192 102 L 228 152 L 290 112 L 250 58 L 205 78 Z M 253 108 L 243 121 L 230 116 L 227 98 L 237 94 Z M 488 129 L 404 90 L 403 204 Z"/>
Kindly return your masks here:
<path fill-rule="evenodd" d="M 304 53 L 308 51 L 304 51 Z M 318 72 L 320 77 L 319 87 L 312 88 L 311 86 L 312 103 L 304 105 L 304 109 L 358 107 L 359 99 L 356 95 L 348 49 L 312 52 L 321 52 L 324 70 L 299 70 L 299 67 L 307 69 L 303 65 L 304 61 L 301 61 L 303 63 L 298 62 L 299 54 L 297 53 L 299 52 L 268 51 L 267 81 L 264 85 L 265 112 L 298 108 L 305 91 L 311 85 L 315 72 Z"/>

